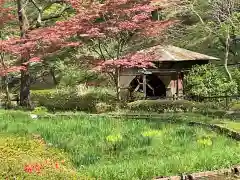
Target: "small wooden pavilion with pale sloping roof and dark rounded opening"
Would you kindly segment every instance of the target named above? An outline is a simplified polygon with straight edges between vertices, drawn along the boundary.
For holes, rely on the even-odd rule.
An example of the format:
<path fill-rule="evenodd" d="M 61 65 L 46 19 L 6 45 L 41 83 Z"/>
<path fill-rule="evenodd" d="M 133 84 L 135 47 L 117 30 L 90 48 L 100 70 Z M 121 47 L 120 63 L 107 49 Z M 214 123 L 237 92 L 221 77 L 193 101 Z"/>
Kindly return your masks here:
<path fill-rule="evenodd" d="M 208 64 L 218 60 L 215 57 L 192 52 L 175 46 L 157 45 L 141 52 L 154 52 L 157 59 L 153 61 L 157 68 L 122 69 L 119 76 L 121 99 L 139 91 L 145 98 L 178 98 L 184 95 L 184 75 L 194 65 Z"/>

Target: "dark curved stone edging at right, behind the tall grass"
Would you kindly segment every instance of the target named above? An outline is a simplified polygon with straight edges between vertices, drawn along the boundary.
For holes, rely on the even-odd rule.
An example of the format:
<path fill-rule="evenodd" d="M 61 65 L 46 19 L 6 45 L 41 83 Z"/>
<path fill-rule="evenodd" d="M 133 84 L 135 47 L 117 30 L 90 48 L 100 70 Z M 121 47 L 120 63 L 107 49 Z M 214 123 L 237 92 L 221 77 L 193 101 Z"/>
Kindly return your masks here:
<path fill-rule="evenodd" d="M 240 141 L 240 133 L 225 127 L 218 126 L 216 124 L 206 124 L 206 123 L 201 123 L 201 122 L 189 122 L 188 123 L 190 126 L 202 126 L 205 128 L 209 128 L 213 131 L 217 131 L 221 134 L 224 134 L 228 137 L 231 137 L 237 141 Z"/>

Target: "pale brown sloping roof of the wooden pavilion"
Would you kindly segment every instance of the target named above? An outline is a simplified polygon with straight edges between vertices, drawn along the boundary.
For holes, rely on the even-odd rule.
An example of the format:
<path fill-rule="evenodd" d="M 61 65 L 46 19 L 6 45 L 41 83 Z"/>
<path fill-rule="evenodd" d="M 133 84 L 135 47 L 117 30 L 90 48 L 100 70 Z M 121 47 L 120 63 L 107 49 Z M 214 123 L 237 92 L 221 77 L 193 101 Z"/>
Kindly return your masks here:
<path fill-rule="evenodd" d="M 194 61 L 194 60 L 219 60 L 218 58 L 207 56 L 201 53 L 193 52 L 183 48 L 167 45 L 167 46 L 153 46 L 143 49 L 140 52 L 153 52 L 157 59 L 155 61 Z"/>

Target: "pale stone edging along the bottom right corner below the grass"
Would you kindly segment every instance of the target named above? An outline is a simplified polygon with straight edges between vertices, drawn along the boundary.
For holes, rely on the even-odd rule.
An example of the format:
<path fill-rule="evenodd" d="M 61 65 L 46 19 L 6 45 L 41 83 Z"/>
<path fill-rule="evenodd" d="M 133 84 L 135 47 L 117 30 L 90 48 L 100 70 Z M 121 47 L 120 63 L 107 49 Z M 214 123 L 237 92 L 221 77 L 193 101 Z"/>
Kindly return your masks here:
<path fill-rule="evenodd" d="M 192 173 L 180 176 L 156 177 L 154 180 L 200 180 L 201 178 L 216 178 L 219 176 L 240 175 L 240 165 L 229 169 L 221 169 L 216 171 L 206 171 L 199 173 Z"/>

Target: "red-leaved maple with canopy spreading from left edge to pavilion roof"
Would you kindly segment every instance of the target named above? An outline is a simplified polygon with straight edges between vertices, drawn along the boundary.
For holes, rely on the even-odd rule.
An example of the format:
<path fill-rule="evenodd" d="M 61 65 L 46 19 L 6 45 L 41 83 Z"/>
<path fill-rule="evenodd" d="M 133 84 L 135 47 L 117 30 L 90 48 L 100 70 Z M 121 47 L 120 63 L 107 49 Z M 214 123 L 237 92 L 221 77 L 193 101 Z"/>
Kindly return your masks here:
<path fill-rule="evenodd" d="M 90 45 L 99 55 L 102 59 L 99 69 L 107 70 L 118 87 L 121 67 L 148 67 L 153 65 L 151 61 L 154 59 L 154 55 L 148 53 L 135 52 L 126 55 L 124 47 L 135 38 L 158 35 L 174 23 L 173 20 L 152 19 L 153 11 L 159 11 L 172 4 L 165 0 L 65 2 L 70 3 L 76 10 L 72 18 L 57 22 L 52 27 L 26 31 L 22 38 L 0 42 L 1 51 L 25 59 L 17 69 L 24 70 L 30 62 L 39 61 L 41 57 L 63 47 L 84 43 Z M 69 38 L 75 41 L 70 41 Z M 109 46 L 111 42 L 114 42 L 113 47 Z M 8 71 L 12 71 L 11 68 Z"/>

